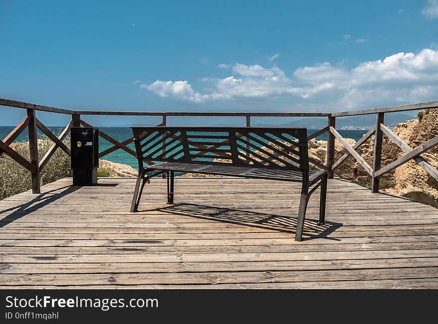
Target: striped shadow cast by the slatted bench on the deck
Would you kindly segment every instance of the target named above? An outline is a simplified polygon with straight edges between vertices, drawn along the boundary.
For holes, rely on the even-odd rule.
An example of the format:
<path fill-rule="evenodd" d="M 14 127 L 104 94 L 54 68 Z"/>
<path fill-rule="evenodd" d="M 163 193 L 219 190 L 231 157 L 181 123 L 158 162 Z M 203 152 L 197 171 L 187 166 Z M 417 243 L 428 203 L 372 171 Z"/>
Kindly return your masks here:
<path fill-rule="evenodd" d="M 265 214 L 231 208 L 177 203 L 166 207 L 156 208 L 154 210 L 173 215 L 183 215 L 193 218 L 207 219 L 223 223 L 231 223 L 293 234 L 295 234 L 297 228 L 297 218 L 295 217 Z M 316 220 L 306 219 L 304 221 L 303 241 L 312 239 L 340 241 L 339 239 L 327 237 L 340 226 L 342 226 L 342 223 L 326 222 L 324 225 L 319 225 L 318 221 Z"/>

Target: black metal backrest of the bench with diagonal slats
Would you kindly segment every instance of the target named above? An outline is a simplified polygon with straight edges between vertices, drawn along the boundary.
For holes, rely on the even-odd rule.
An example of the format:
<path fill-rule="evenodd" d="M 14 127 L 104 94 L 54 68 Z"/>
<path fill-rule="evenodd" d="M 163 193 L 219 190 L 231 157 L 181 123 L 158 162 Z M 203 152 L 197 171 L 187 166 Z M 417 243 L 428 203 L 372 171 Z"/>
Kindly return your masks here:
<path fill-rule="evenodd" d="M 132 127 L 132 132 L 141 164 L 189 162 L 309 170 L 306 128 L 159 126 Z"/>

